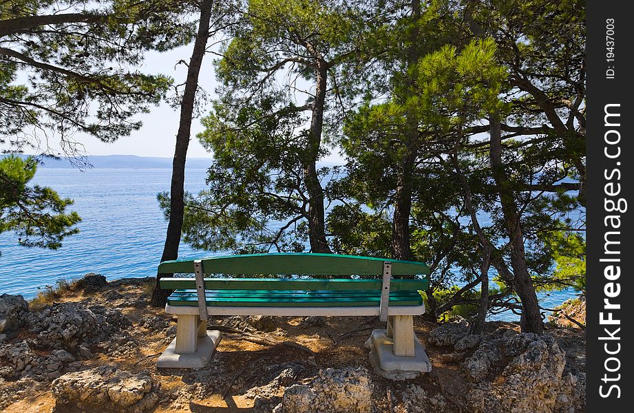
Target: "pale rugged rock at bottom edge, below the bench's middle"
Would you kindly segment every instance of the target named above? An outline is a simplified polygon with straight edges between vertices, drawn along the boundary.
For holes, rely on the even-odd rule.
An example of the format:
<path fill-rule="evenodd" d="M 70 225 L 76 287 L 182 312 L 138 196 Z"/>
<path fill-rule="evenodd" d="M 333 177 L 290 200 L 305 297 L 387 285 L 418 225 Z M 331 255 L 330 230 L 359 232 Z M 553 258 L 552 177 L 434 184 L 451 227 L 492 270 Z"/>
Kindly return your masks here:
<path fill-rule="evenodd" d="M 286 388 L 275 412 L 370 413 L 372 379 L 365 368 L 327 368 L 307 385 Z"/>

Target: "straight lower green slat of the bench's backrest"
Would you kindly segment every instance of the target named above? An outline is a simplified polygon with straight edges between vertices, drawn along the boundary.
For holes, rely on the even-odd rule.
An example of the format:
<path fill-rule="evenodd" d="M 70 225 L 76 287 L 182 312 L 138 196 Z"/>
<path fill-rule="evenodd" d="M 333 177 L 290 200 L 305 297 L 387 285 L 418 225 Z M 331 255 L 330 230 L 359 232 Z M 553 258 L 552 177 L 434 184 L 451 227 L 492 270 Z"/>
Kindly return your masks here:
<path fill-rule="evenodd" d="M 381 290 L 380 279 L 205 278 L 205 290 Z M 392 279 L 390 291 L 426 290 L 429 280 Z M 160 288 L 196 288 L 193 278 L 162 278 Z"/>

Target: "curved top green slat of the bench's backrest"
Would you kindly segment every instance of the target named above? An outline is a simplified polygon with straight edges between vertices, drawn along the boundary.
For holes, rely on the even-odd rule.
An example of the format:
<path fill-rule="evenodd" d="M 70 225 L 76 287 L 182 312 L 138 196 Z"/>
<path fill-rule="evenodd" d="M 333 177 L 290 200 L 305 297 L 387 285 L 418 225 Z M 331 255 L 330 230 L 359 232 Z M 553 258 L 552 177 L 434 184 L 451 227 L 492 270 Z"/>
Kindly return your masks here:
<path fill-rule="evenodd" d="M 158 266 L 158 272 L 193 273 L 193 261 L 165 261 Z M 392 275 L 430 273 L 423 262 L 317 253 L 230 255 L 206 258 L 202 264 L 205 274 L 381 275 L 386 261 L 392 263 Z"/>

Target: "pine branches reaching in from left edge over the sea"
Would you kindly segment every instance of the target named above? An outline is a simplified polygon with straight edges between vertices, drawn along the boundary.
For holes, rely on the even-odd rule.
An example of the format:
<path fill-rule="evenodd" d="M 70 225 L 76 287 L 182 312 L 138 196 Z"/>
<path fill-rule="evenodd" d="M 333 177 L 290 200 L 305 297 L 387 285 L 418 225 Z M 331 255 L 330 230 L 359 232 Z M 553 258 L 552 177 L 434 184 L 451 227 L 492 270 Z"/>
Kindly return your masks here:
<path fill-rule="evenodd" d="M 37 160 L 67 156 L 86 166 L 83 138 L 113 142 L 139 129 L 135 116 L 165 98 L 171 84 L 139 67 L 150 50 L 189 42 L 193 8 L 154 0 L 0 4 L 0 151 L 38 155 L 2 160 L 3 231 L 21 233 L 23 245 L 47 248 L 76 232 L 78 216 L 64 213 L 70 200 L 25 186 Z"/>

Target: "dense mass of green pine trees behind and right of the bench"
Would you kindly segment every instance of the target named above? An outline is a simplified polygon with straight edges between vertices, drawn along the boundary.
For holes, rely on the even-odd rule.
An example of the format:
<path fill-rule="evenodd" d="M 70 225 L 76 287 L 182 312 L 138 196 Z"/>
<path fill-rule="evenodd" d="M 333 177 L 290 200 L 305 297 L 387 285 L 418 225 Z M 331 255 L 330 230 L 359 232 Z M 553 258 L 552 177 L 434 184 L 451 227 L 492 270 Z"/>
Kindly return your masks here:
<path fill-rule="evenodd" d="M 310 233 L 317 202 L 329 250 L 429 262 L 434 315 L 456 304 L 513 310 L 541 332 L 536 292 L 583 290 L 582 4 L 249 1 L 244 10 L 199 137 L 214 160 L 209 190 L 188 201 L 188 242 L 321 251 Z M 320 100 L 322 57 L 336 63 L 326 63 Z M 319 116 L 336 116 L 313 129 L 320 105 Z M 319 169 L 322 128 L 343 168 Z"/>

